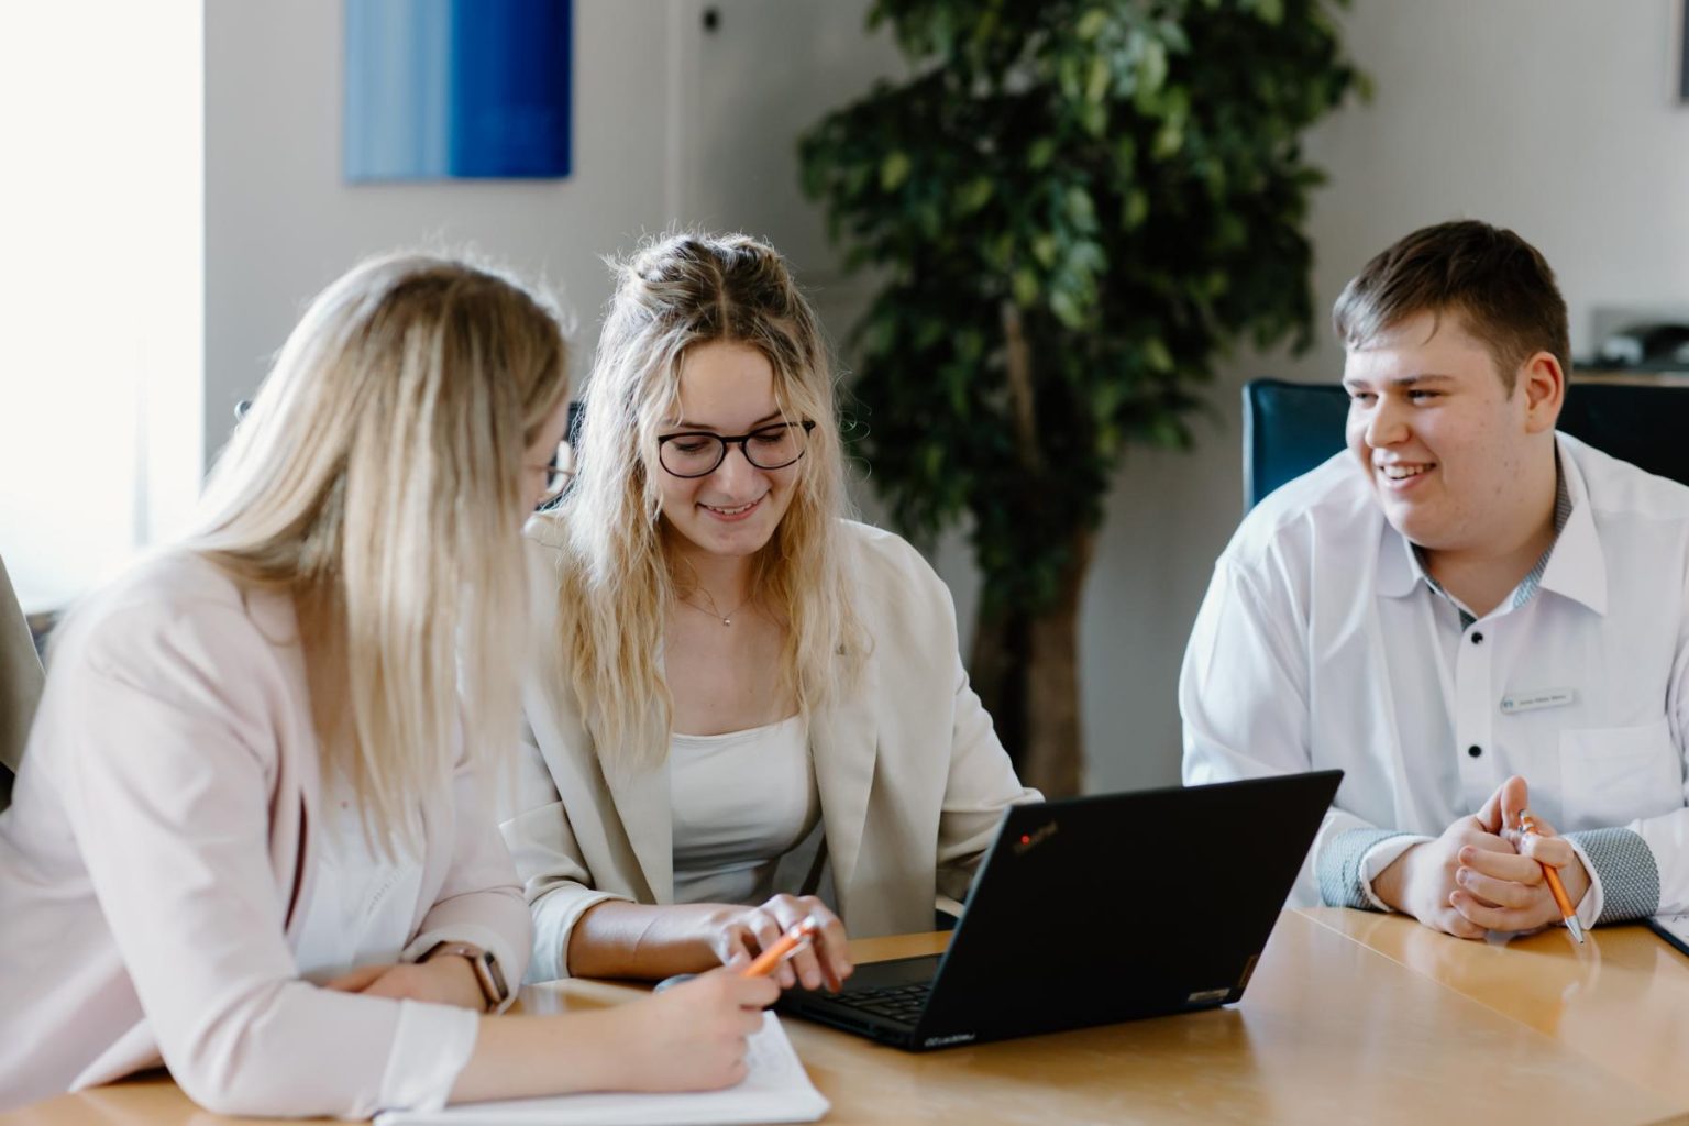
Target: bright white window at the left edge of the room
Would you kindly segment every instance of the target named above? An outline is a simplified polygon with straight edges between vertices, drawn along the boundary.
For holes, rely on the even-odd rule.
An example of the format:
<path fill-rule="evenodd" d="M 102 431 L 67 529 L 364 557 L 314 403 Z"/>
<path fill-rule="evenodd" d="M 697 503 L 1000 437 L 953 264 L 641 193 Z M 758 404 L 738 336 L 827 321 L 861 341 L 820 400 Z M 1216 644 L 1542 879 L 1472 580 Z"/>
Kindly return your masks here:
<path fill-rule="evenodd" d="M 203 469 L 199 0 L 0 5 L 0 555 L 62 606 Z"/>

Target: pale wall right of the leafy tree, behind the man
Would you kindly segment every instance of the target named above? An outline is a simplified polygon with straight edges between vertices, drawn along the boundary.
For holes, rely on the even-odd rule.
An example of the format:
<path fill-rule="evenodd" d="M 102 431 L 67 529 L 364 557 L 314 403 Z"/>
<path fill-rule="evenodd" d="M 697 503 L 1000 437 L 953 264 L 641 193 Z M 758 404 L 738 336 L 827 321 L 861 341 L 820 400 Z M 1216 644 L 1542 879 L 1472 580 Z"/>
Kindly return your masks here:
<path fill-rule="evenodd" d="M 1426 223 L 1512 226 L 1554 265 L 1572 348 L 1603 306 L 1689 306 L 1689 106 L 1677 105 L 1681 0 L 1356 0 L 1348 49 L 1377 84 L 1314 132 L 1314 297 L 1329 311 L 1366 258 Z M 1321 312 L 1324 316 L 1324 312 Z M 1231 366 L 1194 456 L 1128 459 L 1108 506 L 1083 640 L 1089 785 L 1172 782 L 1184 636 L 1241 505 L 1243 380 L 1336 380 L 1321 321 L 1302 358 Z"/>

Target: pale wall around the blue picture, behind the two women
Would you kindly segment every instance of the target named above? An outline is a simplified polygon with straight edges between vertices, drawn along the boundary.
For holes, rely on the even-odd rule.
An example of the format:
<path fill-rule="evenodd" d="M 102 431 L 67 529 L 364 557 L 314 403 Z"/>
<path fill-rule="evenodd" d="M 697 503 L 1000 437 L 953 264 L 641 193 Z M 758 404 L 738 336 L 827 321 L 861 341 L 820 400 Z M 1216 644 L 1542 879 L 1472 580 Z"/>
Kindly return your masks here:
<path fill-rule="evenodd" d="M 775 240 L 843 331 L 861 289 L 831 268 L 796 138 L 899 66 L 883 35 L 861 32 L 866 0 L 574 8 L 571 177 L 353 186 L 339 169 L 341 0 L 206 3 L 208 452 L 302 302 L 395 246 L 470 245 L 544 273 L 578 312 L 578 373 L 610 295 L 600 255 L 672 225 Z"/>

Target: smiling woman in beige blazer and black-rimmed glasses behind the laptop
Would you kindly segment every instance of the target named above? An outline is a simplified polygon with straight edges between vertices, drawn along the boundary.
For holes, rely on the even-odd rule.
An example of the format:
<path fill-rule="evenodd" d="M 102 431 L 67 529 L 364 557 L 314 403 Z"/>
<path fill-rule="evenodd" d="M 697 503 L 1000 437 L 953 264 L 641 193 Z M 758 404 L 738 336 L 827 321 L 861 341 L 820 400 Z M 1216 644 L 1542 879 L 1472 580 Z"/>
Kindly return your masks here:
<path fill-rule="evenodd" d="M 785 263 L 682 235 L 615 267 L 578 478 L 529 527 L 520 807 L 534 977 L 664 977 L 816 915 L 932 928 L 1034 798 L 968 687 L 949 591 L 844 520 L 833 373 Z M 836 910 L 834 910 L 836 908 Z"/>

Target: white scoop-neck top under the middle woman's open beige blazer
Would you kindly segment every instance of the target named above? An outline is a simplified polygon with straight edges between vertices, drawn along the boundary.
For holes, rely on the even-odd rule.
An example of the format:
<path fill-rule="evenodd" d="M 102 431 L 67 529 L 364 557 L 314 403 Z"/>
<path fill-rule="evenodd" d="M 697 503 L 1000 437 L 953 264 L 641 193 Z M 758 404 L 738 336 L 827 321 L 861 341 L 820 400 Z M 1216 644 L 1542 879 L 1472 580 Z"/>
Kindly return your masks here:
<path fill-rule="evenodd" d="M 779 859 L 821 819 L 802 716 L 669 739 L 674 901 L 762 903 Z"/>

